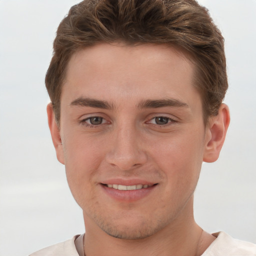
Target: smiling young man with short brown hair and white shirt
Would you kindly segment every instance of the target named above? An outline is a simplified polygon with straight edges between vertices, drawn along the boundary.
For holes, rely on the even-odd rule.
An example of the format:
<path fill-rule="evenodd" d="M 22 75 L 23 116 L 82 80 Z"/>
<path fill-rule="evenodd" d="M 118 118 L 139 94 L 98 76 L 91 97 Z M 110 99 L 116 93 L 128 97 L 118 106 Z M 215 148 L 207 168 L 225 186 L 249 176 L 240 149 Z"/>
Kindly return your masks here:
<path fill-rule="evenodd" d="M 193 218 L 202 161 L 229 124 L 223 38 L 193 0 L 84 0 L 45 83 L 58 160 L 85 234 L 31 255 L 255 255 Z"/>

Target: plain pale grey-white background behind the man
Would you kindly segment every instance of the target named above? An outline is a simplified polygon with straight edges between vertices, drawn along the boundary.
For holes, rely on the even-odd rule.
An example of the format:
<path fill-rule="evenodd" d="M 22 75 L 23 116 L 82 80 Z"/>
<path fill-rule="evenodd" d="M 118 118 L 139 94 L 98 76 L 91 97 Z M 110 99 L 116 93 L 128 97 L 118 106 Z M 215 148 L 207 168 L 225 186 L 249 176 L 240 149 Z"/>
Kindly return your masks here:
<path fill-rule="evenodd" d="M 0 255 L 27 255 L 84 232 L 46 120 L 44 74 L 55 30 L 77 0 L 0 0 Z M 195 218 L 256 242 L 256 0 L 199 0 L 225 37 L 231 123 L 204 163 Z"/>

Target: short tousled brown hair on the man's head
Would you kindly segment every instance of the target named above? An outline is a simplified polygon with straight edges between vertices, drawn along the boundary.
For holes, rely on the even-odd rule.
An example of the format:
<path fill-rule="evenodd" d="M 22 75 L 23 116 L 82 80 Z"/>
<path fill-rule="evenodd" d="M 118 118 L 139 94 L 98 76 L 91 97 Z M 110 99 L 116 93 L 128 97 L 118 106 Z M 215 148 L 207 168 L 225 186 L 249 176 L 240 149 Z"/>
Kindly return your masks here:
<path fill-rule="evenodd" d="M 83 0 L 60 22 L 45 84 L 57 123 L 67 63 L 74 51 L 97 42 L 169 43 L 195 64 L 194 85 L 204 121 L 218 113 L 227 89 L 223 37 L 195 0 Z"/>

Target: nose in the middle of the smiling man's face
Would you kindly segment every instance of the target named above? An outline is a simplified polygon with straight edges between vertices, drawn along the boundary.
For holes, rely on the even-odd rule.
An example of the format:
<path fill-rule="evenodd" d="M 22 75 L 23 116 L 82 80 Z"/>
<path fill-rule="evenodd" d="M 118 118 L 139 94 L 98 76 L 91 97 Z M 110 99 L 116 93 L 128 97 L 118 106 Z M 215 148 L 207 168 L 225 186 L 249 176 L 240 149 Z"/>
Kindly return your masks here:
<path fill-rule="evenodd" d="M 106 161 L 121 170 L 129 170 L 147 160 L 141 136 L 134 127 L 122 127 L 113 131 Z"/>

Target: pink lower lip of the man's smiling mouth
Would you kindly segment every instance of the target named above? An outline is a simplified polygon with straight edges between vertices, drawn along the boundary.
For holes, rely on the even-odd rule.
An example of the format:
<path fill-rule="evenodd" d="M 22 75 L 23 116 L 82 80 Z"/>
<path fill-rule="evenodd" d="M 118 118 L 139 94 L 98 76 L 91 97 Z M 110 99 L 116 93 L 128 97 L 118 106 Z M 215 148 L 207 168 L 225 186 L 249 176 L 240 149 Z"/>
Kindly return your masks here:
<path fill-rule="evenodd" d="M 136 201 L 146 197 L 149 193 L 151 193 L 157 184 L 149 186 L 147 188 L 135 189 L 135 190 L 118 190 L 111 187 L 107 187 L 103 184 L 100 184 L 103 188 L 104 192 L 118 201 Z"/>

